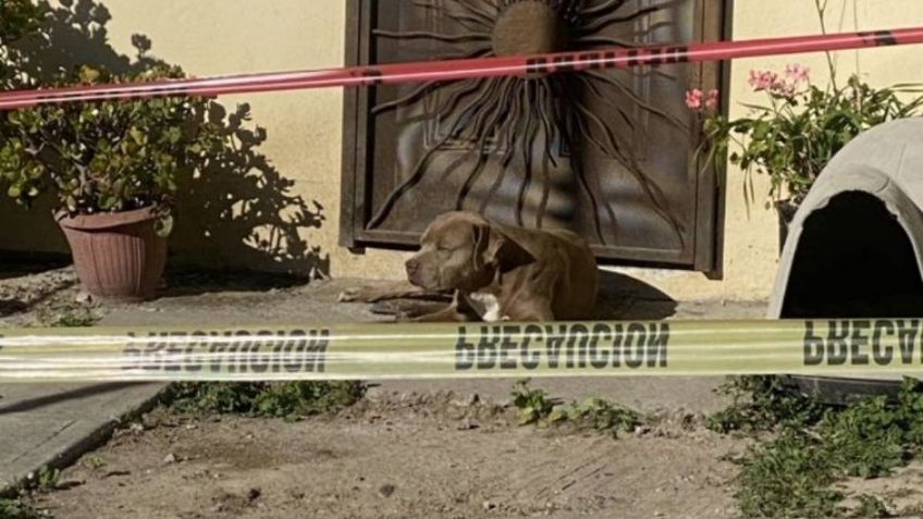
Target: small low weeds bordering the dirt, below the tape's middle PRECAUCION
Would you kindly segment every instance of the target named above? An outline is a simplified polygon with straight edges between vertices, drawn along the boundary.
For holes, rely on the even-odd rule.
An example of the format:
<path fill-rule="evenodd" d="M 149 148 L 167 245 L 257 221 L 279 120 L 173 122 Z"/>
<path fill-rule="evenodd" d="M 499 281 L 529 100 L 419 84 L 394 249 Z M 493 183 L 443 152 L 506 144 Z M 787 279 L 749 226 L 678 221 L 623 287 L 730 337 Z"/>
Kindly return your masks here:
<path fill-rule="evenodd" d="M 641 416 L 617 404 L 590 398 L 581 404 L 561 406 L 543 390 L 533 390 L 529 381 L 513 387 L 513 405 L 519 409 L 519 424 L 539 427 L 568 424 L 578 430 L 612 434 L 630 432 L 641 424 Z"/>

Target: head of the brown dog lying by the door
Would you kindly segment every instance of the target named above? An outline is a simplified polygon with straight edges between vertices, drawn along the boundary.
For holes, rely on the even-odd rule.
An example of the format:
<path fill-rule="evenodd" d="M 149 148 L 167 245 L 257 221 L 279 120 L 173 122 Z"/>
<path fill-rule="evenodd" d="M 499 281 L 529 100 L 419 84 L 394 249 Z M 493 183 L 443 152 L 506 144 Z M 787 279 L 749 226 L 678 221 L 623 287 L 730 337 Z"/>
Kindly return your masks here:
<path fill-rule="evenodd" d="M 420 244 L 420 251 L 407 261 L 407 277 L 428 291 L 476 292 L 499 272 L 534 261 L 502 227 L 469 212 L 436 218 Z"/>

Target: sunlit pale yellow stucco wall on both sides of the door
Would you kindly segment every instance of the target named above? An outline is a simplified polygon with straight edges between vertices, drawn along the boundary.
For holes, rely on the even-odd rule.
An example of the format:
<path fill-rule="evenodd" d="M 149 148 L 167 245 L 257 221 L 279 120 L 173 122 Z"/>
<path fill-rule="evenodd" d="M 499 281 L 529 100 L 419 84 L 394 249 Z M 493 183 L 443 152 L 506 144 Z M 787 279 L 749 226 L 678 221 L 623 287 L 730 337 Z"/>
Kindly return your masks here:
<path fill-rule="evenodd" d="M 710 0 L 711 1 L 711 0 Z M 109 42 L 119 51 L 131 50 L 131 37 L 140 33 L 153 44 L 153 54 L 181 64 L 188 73 L 207 76 L 225 73 L 285 71 L 336 66 L 343 62 L 345 8 L 342 0 L 104 0 L 111 13 L 107 24 Z M 829 0 L 828 29 L 877 29 L 920 25 L 920 0 Z M 813 0 L 737 0 L 735 38 L 812 34 L 819 30 Z M 822 54 L 740 60 L 734 63 L 733 115 L 742 114 L 740 102 L 756 100 L 747 85 L 750 69 L 783 69 L 798 61 L 825 81 Z M 859 71 L 875 85 L 920 79 L 923 52 L 920 47 L 844 52 L 837 55 L 839 74 Z M 248 102 L 253 122 L 268 131 L 260 147 L 279 173 L 295 182 L 294 194 L 323 207 L 319 228 L 303 238 L 319 249 L 323 269 L 333 276 L 401 277 L 403 255 L 370 250 L 356 256 L 337 246 L 341 155 L 341 91 L 325 89 L 222 98 L 233 108 Z M 765 189 L 758 183 L 758 190 Z M 35 222 L 0 226 L 0 248 L 61 249 L 57 230 L 47 212 L 29 214 L 0 202 L 0 219 Z M 30 224 L 32 225 L 32 224 Z M 181 223 L 182 225 L 182 223 Z M 36 231 L 37 230 L 37 231 Z M 238 237 L 239 238 L 239 237 Z M 246 249 L 260 237 L 243 237 Z M 269 238 L 268 238 L 269 239 Z M 709 281 L 689 272 L 629 270 L 680 299 L 760 299 L 767 297 L 775 275 L 777 224 L 775 214 L 761 203 L 747 213 L 741 196 L 741 176 L 728 178 L 725 231 L 725 279 Z M 194 251 L 202 262 L 219 264 L 260 261 L 258 256 L 222 252 L 221 244 L 202 247 L 198 238 L 174 240 L 174 249 Z M 205 250 L 206 254 L 200 252 Z M 243 258 L 243 259 L 242 259 Z M 249 267 L 271 268 L 272 261 Z"/>

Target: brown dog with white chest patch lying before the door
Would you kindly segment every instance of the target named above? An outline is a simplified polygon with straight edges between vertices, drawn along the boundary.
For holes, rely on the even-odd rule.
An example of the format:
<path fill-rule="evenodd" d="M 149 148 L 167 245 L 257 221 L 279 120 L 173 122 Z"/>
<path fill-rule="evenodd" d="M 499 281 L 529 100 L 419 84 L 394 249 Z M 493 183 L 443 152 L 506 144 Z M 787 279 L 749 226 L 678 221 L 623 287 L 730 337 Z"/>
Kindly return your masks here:
<path fill-rule="evenodd" d="M 589 245 L 569 231 L 492 223 L 469 212 L 435 219 L 407 261 L 407 277 L 428 292 L 454 291 L 442 310 L 413 319 L 555 321 L 593 317 L 599 272 Z M 394 294 L 394 297 L 407 296 Z M 366 300 L 382 300 L 381 294 Z M 352 297 L 341 298 L 355 300 Z"/>

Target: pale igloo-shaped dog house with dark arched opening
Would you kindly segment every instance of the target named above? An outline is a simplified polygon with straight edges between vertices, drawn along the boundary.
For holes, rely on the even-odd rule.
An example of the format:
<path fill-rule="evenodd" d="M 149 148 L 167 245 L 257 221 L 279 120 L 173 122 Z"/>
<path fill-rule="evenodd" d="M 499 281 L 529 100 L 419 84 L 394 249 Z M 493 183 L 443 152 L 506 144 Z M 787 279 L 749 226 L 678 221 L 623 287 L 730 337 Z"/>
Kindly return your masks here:
<path fill-rule="evenodd" d="M 770 317 L 923 317 L 923 119 L 881 125 L 827 165 L 789 228 Z M 823 399 L 897 378 L 796 379 Z"/>

